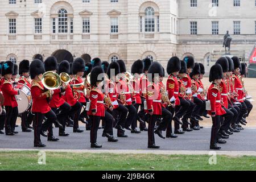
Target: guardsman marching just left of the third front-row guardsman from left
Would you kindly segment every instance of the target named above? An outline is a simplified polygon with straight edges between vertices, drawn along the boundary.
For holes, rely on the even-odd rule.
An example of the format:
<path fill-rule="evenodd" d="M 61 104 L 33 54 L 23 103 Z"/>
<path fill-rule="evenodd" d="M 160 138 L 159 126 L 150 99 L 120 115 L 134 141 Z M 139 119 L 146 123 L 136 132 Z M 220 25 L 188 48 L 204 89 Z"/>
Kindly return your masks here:
<path fill-rule="evenodd" d="M 139 80 L 141 78 L 140 75 L 143 73 L 143 69 L 144 69 L 144 64 L 143 64 L 143 61 L 141 60 L 135 61 L 131 66 L 131 74 L 133 74 L 133 78 L 131 78 L 130 80 L 130 85 L 132 86 L 132 89 L 133 89 L 133 94 L 136 102 L 134 106 L 137 110 L 137 113 L 139 110 L 139 106 L 141 106 L 142 104 L 144 106 L 144 103 L 142 103 L 142 97 L 141 97 L 141 91 L 140 91 L 140 80 Z M 139 114 L 138 114 L 137 120 L 139 121 L 139 129 L 141 131 L 147 131 L 146 123 L 141 119 L 141 117 L 139 117 Z M 133 128 L 135 127 L 137 127 L 137 122 L 134 123 Z"/>

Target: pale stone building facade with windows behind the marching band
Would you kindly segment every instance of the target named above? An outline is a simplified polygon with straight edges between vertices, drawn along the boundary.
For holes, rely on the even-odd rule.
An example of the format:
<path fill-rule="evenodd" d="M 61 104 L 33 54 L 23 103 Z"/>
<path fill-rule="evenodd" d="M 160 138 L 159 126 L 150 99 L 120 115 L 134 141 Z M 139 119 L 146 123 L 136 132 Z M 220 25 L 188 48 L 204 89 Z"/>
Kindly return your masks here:
<path fill-rule="evenodd" d="M 256 42 L 255 0 L 2 0 L 0 60 L 127 61 L 192 55 L 208 70 L 225 53 L 247 60 Z"/>

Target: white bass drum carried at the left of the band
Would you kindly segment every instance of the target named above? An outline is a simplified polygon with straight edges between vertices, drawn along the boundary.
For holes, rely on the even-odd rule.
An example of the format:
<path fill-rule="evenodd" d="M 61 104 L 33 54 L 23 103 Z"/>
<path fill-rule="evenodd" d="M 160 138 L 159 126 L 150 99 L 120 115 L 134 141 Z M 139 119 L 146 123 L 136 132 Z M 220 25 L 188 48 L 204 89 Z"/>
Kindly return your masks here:
<path fill-rule="evenodd" d="M 16 96 L 16 100 L 19 114 L 22 114 L 27 111 L 32 104 L 30 88 L 24 84 L 16 84 L 14 88 L 19 90 L 19 95 Z"/>

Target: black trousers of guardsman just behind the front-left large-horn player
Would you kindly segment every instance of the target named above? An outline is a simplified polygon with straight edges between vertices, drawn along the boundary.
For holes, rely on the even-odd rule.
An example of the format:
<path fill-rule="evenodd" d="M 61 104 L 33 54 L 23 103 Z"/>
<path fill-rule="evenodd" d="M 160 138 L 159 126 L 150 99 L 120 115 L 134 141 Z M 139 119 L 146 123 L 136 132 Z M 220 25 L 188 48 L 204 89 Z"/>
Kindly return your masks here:
<path fill-rule="evenodd" d="M 56 114 L 57 120 L 63 126 L 62 129 L 59 128 L 59 133 L 63 133 L 65 131 L 66 118 L 68 117 L 70 110 L 71 110 L 71 106 L 67 102 L 64 102 L 64 104 L 59 107 L 58 113 L 57 113 L 57 108 L 52 108 L 52 111 Z"/>

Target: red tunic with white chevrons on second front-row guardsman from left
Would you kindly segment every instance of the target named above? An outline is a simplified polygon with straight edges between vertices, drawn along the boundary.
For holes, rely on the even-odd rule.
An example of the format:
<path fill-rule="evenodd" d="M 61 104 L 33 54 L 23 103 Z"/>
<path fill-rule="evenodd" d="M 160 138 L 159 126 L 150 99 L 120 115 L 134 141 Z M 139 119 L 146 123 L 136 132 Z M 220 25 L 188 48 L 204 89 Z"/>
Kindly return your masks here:
<path fill-rule="evenodd" d="M 90 109 L 88 115 L 96 113 L 96 116 L 105 116 L 104 94 L 96 86 L 90 91 Z"/>

